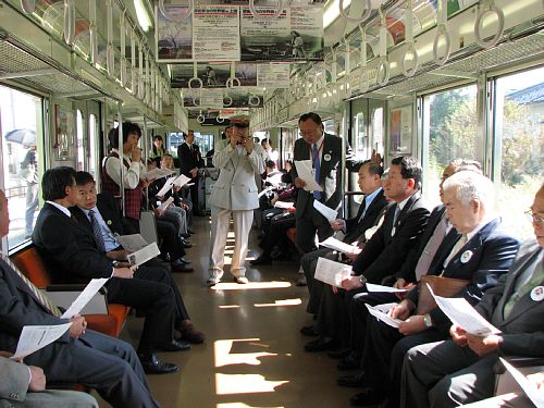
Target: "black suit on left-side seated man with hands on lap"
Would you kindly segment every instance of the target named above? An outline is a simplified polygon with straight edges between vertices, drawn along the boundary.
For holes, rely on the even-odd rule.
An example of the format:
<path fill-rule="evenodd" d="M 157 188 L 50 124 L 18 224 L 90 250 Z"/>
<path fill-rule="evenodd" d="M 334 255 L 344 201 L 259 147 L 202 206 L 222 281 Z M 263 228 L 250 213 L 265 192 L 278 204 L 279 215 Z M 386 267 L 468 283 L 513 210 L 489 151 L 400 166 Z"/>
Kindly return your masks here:
<path fill-rule="evenodd" d="M 88 283 L 95 277 L 110 277 L 111 260 L 98 249 L 85 214 L 79 209 L 74 212 L 78 217 L 69 218 L 46 202 L 36 220 L 33 242 L 52 280 Z M 146 314 L 138 353 L 150 353 L 173 338 L 176 304 L 166 280 L 169 275 L 163 269 L 140 267 L 134 279 L 112 277 L 106 284 L 109 301 L 135 307 Z"/>

